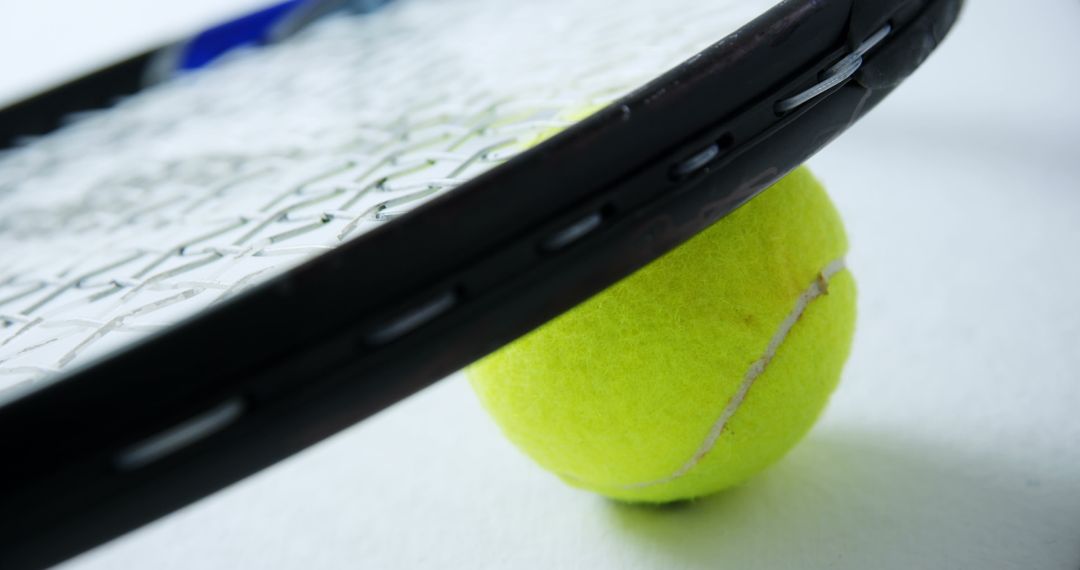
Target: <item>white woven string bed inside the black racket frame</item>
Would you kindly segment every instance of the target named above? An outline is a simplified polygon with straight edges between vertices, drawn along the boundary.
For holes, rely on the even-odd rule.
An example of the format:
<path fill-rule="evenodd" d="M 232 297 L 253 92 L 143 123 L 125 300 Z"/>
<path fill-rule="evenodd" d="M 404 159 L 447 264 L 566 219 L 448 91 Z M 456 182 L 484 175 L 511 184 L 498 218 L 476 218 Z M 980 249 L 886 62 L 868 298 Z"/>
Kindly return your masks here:
<path fill-rule="evenodd" d="M 406 215 L 771 3 L 403 0 L 72 116 L 0 154 L 0 391 Z"/>

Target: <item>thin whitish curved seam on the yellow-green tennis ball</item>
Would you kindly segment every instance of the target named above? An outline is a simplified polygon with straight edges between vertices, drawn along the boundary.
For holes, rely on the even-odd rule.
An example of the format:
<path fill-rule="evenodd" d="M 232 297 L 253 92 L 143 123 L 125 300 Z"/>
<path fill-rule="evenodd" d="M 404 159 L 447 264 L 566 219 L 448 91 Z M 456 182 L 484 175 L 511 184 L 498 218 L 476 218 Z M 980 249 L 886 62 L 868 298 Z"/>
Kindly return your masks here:
<path fill-rule="evenodd" d="M 705 454 L 713 449 L 713 446 L 716 445 L 716 440 L 719 439 L 720 434 L 724 433 L 724 428 L 727 426 L 728 420 L 730 420 L 731 417 L 739 411 L 739 407 L 742 406 L 743 401 L 746 399 L 746 394 L 748 394 L 750 389 L 753 388 L 754 381 L 757 380 L 759 376 L 765 374 L 765 369 L 769 366 L 769 362 L 777 355 L 777 351 L 780 350 L 784 340 L 787 339 L 787 335 L 792 331 L 795 323 L 799 321 L 799 317 L 802 316 L 802 313 L 806 312 L 807 307 L 809 307 L 810 302 L 818 297 L 828 294 L 828 280 L 831 280 L 833 275 L 843 271 L 845 268 L 846 266 L 842 258 L 828 263 L 825 266 L 825 269 L 822 269 L 821 272 L 818 273 L 818 279 L 815 279 L 813 283 L 811 283 L 810 286 L 807 287 L 801 295 L 799 295 L 799 298 L 795 301 L 795 307 L 792 309 L 792 312 L 787 313 L 787 317 L 780 323 L 780 328 L 777 329 L 777 331 L 772 335 L 772 339 L 769 340 L 768 347 L 765 348 L 765 353 L 760 358 L 755 361 L 754 364 L 750 365 L 748 369 L 746 369 L 746 374 L 743 376 L 739 390 L 733 396 L 731 396 L 731 399 L 728 401 L 728 405 L 724 408 L 724 412 L 720 413 L 720 417 L 715 423 L 713 423 L 713 428 L 708 431 L 708 435 L 705 437 L 705 440 L 702 442 L 701 447 L 698 448 L 693 456 L 687 460 L 681 467 L 676 470 L 675 473 L 672 473 L 661 479 L 624 485 L 622 488 L 644 489 L 646 487 L 652 487 L 653 485 L 671 483 L 683 475 L 686 475 L 690 472 L 690 470 L 696 467 L 698 463 L 704 459 Z"/>

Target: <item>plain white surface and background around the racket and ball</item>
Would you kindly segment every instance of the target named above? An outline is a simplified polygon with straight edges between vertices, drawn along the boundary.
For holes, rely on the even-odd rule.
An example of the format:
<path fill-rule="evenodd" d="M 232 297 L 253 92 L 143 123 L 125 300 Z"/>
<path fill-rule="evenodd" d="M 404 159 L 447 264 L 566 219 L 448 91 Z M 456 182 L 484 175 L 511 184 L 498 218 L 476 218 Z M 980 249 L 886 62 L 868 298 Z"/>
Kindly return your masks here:
<path fill-rule="evenodd" d="M 21 4 L 0 101 L 258 2 Z M 823 420 L 748 485 L 677 508 L 570 489 L 455 376 L 71 567 L 1076 570 L 1080 3 L 969 4 L 811 163 L 859 331 Z"/>

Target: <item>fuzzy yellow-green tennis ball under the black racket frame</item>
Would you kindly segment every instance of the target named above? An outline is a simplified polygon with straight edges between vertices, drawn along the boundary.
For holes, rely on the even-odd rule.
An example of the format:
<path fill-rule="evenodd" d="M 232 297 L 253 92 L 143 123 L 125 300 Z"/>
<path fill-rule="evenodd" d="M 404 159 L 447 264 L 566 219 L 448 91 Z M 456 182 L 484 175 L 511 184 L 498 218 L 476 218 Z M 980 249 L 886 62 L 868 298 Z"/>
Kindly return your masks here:
<path fill-rule="evenodd" d="M 780 459 L 828 401 L 854 329 L 846 250 L 800 168 L 467 374 L 507 436 L 575 487 L 710 494 Z"/>

